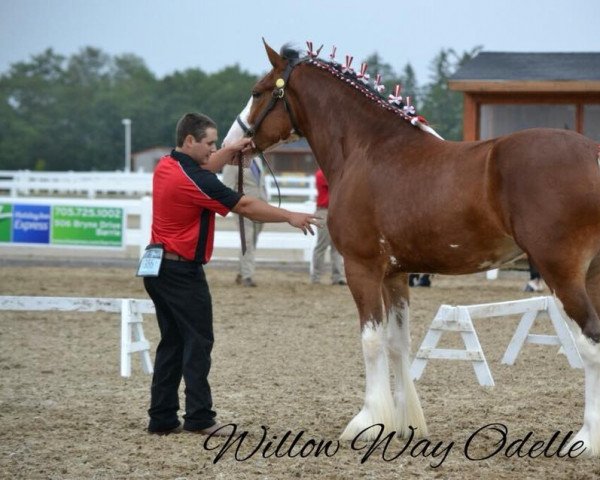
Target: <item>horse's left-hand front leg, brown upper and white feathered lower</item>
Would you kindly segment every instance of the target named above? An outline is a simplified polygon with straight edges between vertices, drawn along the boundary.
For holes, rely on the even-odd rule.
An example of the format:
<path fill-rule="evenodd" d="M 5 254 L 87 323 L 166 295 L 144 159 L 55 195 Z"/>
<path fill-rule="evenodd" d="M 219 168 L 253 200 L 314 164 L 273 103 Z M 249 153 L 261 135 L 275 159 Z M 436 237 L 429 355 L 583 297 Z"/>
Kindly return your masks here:
<path fill-rule="evenodd" d="M 350 421 L 341 435 L 352 440 L 375 424 L 383 424 L 384 432 L 397 425 L 394 401 L 390 389 L 385 326 L 383 324 L 382 281 L 383 266 L 363 265 L 345 258 L 348 286 L 358 308 L 362 350 L 365 361 L 365 402 L 362 410 Z M 380 433 L 372 428 L 361 439 L 374 439 Z"/>

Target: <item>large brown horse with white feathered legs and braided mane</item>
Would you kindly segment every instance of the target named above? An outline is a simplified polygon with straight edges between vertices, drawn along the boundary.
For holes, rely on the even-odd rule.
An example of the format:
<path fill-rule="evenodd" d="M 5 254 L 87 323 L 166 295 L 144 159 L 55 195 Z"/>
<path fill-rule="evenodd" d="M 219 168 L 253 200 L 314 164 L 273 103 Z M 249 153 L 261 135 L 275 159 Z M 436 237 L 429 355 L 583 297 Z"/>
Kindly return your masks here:
<path fill-rule="evenodd" d="M 256 152 L 307 139 L 329 182 L 327 224 L 360 320 L 364 403 L 340 438 L 375 438 L 374 424 L 400 436 L 428 434 L 409 371 L 408 273 L 483 272 L 525 253 L 560 300 L 585 366 L 583 425 L 572 444 L 598 456 L 596 143 L 545 128 L 445 141 L 398 91 L 386 101 L 367 85 L 348 58 L 340 65 L 310 46 L 305 56 L 264 46 L 272 69 L 254 86 L 244 120 Z"/>

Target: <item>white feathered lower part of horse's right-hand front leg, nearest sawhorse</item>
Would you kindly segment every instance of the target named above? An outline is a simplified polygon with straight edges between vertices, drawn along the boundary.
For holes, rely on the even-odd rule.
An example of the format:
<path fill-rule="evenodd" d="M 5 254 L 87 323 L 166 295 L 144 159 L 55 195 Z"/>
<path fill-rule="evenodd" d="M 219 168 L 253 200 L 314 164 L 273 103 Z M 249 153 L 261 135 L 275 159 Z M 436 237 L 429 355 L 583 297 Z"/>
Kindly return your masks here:
<path fill-rule="evenodd" d="M 410 434 L 409 426 L 416 428 L 415 435 L 427 435 L 427 424 L 421 402 L 410 374 L 410 321 L 408 303 L 401 302 L 399 310 L 393 307 L 388 313 L 388 353 L 394 371 L 394 403 L 400 435 Z"/>

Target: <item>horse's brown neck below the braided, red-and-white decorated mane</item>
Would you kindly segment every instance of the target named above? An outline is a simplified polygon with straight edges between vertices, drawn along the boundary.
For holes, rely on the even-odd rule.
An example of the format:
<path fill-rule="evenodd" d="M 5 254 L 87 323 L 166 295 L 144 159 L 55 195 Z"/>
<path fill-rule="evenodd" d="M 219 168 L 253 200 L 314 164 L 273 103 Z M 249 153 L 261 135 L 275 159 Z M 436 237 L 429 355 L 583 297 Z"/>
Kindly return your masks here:
<path fill-rule="evenodd" d="M 310 70 L 309 70 L 310 68 Z M 415 134 L 408 122 L 394 118 L 327 72 L 306 67 L 295 90 L 300 128 L 330 182 L 341 175 L 356 148 L 375 148 L 377 139 L 395 138 L 399 148 Z M 375 138 L 377 137 L 377 139 Z"/>

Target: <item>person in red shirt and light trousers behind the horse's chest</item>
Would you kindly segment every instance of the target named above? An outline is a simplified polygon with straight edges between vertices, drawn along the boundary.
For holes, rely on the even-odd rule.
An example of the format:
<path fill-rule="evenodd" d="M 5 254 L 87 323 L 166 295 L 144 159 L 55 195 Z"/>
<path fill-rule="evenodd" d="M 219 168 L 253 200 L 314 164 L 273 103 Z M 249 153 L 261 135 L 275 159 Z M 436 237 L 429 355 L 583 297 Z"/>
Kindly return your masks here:
<path fill-rule="evenodd" d="M 327 228 L 327 210 L 329 208 L 329 184 L 321 169 L 315 174 L 317 183 L 317 211 L 315 216 L 324 222 L 323 228 L 317 232 L 317 244 L 313 250 L 310 283 L 318 284 L 325 270 L 325 252 L 329 248 L 331 256 L 331 283 L 333 285 L 346 285 L 344 273 L 344 259 L 336 250 Z"/>

